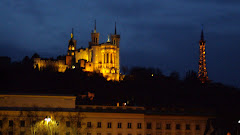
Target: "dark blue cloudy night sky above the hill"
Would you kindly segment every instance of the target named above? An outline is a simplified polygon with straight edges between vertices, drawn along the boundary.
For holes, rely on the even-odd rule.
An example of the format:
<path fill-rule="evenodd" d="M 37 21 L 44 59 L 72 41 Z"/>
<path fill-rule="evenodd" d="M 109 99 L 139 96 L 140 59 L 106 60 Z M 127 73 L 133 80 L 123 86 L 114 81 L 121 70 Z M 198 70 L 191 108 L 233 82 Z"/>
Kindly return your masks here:
<path fill-rule="evenodd" d="M 122 66 L 182 78 L 198 70 L 204 24 L 209 79 L 240 87 L 240 0 L 1 0 L 0 10 L 0 55 L 12 61 L 66 55 L 72 28 L 88 47 L 96 19 L 100 43 L 117 22 Z"/>

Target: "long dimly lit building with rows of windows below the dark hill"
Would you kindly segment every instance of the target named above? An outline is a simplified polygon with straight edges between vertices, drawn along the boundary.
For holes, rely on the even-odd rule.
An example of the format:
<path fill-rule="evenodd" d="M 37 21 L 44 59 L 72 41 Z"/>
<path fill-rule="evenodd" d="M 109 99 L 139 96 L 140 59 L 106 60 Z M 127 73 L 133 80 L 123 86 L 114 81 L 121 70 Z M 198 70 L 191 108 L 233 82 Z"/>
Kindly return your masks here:
<path fill-rule="evenodd" d="M 0 95 L 0 134 L 203 135 L 212 115 L 76 105 L 75 96 Z"/>

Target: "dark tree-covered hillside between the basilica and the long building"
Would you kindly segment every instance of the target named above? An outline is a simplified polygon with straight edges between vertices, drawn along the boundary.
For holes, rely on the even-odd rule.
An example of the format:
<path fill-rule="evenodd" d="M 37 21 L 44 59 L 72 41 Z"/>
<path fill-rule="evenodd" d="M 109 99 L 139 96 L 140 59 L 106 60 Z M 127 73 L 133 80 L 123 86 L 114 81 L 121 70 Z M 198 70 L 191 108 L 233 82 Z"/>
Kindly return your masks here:
<path fill-rule="evenodd" d="M 194 71 L 180 79 L 177 72 L 166 76 L 156 68 L 123 66 L 124 79 L 112 82 L 100 74 L 80 69 L 68 69 L 65 73 L 53 72 L 51 68 L 38 71 L 33 69 L 34 57 L 39 56 L 35 54 L 21 62 L 0 66 L 1 93 L 81 95 L 93 92 L 95 97 L 89 104 L 115 106 L 120 102 L 173 111 L 176 108 L 207 109 L 215 111 L 219 123 L 225 126 L 239 119 L 239 89 L 220 83 L 202 84 Z"/>

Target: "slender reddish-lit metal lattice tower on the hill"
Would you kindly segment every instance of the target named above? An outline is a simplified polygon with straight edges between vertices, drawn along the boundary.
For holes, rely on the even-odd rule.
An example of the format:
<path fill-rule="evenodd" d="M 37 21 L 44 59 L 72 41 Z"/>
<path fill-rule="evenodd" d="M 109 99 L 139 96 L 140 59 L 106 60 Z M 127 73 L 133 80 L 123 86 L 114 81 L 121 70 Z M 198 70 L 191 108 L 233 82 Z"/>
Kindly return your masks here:
<path fill-rule="evenodd" d="M 198 78 L 202 83 L 208 81 L 207 75 L 207 68 L 206 68 L 206 51 L 205 51 L 205 44 L 206 41 L 204 40 L 203 35 L 203 26 L 201 32 L 201 39 L 199 41 L 199 66 L 198 66 Z"/>

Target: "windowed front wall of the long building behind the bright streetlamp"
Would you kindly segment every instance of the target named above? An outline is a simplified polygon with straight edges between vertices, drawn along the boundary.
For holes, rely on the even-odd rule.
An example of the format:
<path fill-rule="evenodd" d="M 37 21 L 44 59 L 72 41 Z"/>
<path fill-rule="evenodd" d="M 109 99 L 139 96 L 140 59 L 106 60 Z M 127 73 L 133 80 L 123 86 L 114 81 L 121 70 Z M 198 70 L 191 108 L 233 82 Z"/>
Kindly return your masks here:
<path fill-rule="evenodd" d="M 77 107 L 76 109 L 59 108 L 55 111 L 51 109 L 32 111 L 26 108 L 22 111 L 0 109 L 2 122 L 0 132 L 2 134 L 24 132 L 28 135 L 33 129 L 44 127 L 44 125 L 33 127 L 35 121 L 43 122 L 46 131 L 53 131 L 53 134 L 59 135 L 204 135 L 207 121 L 212 118 L 197 115 L 151 114 L 150 111 L 145 114 L 143 107 L 94 105 Z M 118 112 L 119 109 L 122 111 Z M 51 118 L 49 125 L 45 121 L 47 116 Z M 10 121 L 13 126 L 10 126 Z M 58 124 L 52 125 L 51 122 Z M 40 134 L 39 131 L 37 132 Z"/>

